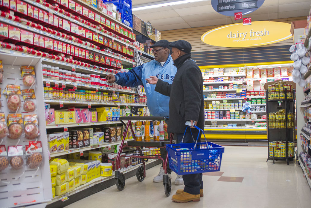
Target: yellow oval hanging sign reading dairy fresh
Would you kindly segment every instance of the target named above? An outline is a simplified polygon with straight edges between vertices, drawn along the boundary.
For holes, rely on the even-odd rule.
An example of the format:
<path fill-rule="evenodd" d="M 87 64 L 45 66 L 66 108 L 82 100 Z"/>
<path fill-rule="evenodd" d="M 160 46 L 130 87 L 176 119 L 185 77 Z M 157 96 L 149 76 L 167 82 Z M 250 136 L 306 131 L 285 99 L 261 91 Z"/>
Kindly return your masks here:
<path fill-rule="evenodd" d="M 239 48 L 268 45 L 291 37 L 288 23 L 257 21 L 251 25 L 242 22 L 217 27 L 204 33 L 201 40 L 212 46 Z"/>

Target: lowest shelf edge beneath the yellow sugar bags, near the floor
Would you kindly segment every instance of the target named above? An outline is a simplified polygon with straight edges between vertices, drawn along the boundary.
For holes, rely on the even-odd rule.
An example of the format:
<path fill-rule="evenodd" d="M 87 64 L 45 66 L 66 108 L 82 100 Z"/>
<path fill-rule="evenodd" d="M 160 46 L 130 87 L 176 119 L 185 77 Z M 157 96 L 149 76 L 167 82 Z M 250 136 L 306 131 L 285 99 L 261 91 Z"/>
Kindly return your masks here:
<path fill-rule="evenodd" d="M 155 162 L 155 161 L 156 161 L 155 159 L 151 159 L 151 160 L 149 160 L 148 162 L 145 162 L 145 164 L 147 165 L 147 164 L 150 164 L 150 163 Z M 132 171 L 132 170 L 136 170 L 136 169 L 139 168 L 140 166 L 141 166 L 141 165 L 139 164 L 139 165 L 136 165 L 136 166 L 134 166 L 134 167 L 130 167 L 130 168 L 126 169 L 126 170 L 120 171 L 120 172 L 122 172 L 122 173 L 124 174 L 124 173 L 130 172 L 130 171 Z M 86 184 L 83 184 L 83 185 L 81 185 L 81 186 L 75 188 L 74 190 L 67 192 L 66 194 L 64 194 L 64 195 L 62 195 L 62 196 L 55 196 L 55 197 L 52 199 L 52 201 L 49 202 L 49 204 L 52 204 L 52 203 L 54 203 L 54 202 L 56 202 L 56 201 L 61 200 L 61 198 L 63 198 L 64 196 L 69 197 L 69 196 L 71 196 L 71 195 L 73 195 L 73 194 L 75 194 L 75 193 L 78 193 L 78 192 L 80 192 L 80 191 L 83 191 L 83 190 L 85 190 L 85 189 L 87 189 L 87 188 L 89 188 L 89 187 L 91 187 L 91 186 L 95 186 L 96 184 L 99 184 L 99 183 L 104 182 L 104 181 L 108 181 L 109 179 L 113 179 L 113 178 L 114 178 L 114 172 L 112 173 L 112 176 L 109 176 L 109 177 L 102 177 L 102 176 L 100 176 L 100 177 L 98 177 L 98 178 L 95 178 L 95 179 L 93 179 L 92 181 L 90 181 L 90 182 L 88 182 L 88 183 L 86 183 Z"/>

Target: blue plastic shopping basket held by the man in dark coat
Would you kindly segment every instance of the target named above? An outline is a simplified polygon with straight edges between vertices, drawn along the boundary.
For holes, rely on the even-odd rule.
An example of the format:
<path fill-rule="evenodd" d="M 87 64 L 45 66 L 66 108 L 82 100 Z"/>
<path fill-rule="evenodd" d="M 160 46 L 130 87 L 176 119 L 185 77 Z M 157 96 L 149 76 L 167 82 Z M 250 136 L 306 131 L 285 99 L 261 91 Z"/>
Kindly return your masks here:
<path fill-rule="evenodd" d="M 194 127 L 204 135 L 202 129 L 197 126 Z M 185 133 L 183 136 L 185 136 Z M 200 133 L 197 136 L 197 141 L 199 136 Z M 220 171 L 221 157 L 222 153 L 225 152 L 225 148 L 218 144 L 207 142 L 205 135 L 204 138 L 206 142 L 197 143 L 195 141 L 195 143 L 167 144 L 166 150 L 168 151 L 170 169 L 178 175 Z"/>

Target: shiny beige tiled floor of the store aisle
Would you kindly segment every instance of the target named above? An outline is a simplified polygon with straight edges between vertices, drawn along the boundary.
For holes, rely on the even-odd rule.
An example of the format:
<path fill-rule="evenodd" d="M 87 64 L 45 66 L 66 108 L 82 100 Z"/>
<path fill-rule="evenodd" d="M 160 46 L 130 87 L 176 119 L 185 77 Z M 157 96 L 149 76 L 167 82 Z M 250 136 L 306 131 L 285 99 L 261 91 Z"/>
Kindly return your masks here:
<path fill-rule="evenodd" d="M 147 170 L 143 182 L 136 176 L 126 180 L 123 191 L 109 187 L 66 208 L 76 207 L 297 207 L 311 204 L 311 191 L 298 164 L 286 165 L 267 160 L 267 147 L 225 147 L 221 172 L 230 182 L 218 181 L 220 176 L 203 176 L 204 197 L 200 202 L 174 203 L 171 197 L 183 186 L 172 185 L 171 196 L 166 197 L 162 183 L 153 183 L 160 166 Z M 221 175 L 221 173 L 219 174 Z M 176 174 L 173 173 L 174 182 Z M 234 178 L 239 177 L 239 178 Z M 237 181 L 237 182 L 232 182 Z"/>

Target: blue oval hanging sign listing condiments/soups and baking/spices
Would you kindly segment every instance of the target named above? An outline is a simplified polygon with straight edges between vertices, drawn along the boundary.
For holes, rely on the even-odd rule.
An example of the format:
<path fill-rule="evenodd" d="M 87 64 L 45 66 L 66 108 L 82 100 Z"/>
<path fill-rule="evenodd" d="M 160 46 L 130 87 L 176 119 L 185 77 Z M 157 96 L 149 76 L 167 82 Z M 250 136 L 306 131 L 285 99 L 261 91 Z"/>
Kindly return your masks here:
<path fill-rule="evenodd" d="M 243 15 L 254 12 L 265 0 L 211 0 L 214 10 L 222 15 L 234 17 L 235 12 Z"/>

